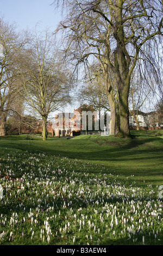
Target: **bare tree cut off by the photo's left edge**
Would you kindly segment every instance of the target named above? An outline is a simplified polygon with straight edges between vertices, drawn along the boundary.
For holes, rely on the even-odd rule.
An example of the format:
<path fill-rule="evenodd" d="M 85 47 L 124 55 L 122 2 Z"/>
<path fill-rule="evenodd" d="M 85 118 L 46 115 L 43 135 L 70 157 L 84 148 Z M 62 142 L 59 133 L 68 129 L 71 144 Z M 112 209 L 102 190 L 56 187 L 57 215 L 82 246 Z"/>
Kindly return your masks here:
<path fill-rule="evenodd" d="M 0 44 L 2 54 L 0 57 L 0 135 L 5 135 L 5 126 L 8 109 L 15 98 L 16 87 L 14 85 L 17 70 L 15 59 L 24 40 L 16 33 L 14 24 L 9 24 L 0 19 Z"/>

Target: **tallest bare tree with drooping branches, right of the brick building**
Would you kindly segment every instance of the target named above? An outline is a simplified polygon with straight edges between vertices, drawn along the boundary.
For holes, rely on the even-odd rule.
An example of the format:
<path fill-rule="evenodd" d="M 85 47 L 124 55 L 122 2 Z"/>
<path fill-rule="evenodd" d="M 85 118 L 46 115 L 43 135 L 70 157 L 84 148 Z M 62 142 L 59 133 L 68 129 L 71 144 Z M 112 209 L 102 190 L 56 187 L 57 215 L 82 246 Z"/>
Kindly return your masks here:
<path fill-rule="evenodd" d="M 66 31 L 67 48 L 70 49 L 71 46 L 71 56 L 73 54 L 78 64 L 91 62 L 92 56 L 101 64 L 114 126 L 115 93 L 108 74 L 110 70 L 115 74 L 120 115 L 118 135 L 128 137 L 131 74 L 139 59 L 147 60 L 149 65 L 153 66 L 152 59 L 147 59 L 147 55 L 150 53 L 152 57 L 161 42 L 162 2 L 56 0 L 54 4 L 64 4 L 63 7 L 67 8 L 67 16 L 59 28 Z"/>

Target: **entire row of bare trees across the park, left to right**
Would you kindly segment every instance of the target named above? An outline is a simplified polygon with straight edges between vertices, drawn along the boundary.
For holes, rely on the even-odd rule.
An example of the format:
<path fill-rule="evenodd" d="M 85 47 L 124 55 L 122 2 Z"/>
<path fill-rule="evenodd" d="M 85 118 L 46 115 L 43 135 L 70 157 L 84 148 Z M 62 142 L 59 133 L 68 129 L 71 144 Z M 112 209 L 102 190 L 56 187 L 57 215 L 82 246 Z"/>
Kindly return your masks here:
<path fill-rule="evenodd" d="M 149 96 L 162 95 L 162 2 L 55 0 L 53 4 L 66 10 L 55 31 L 62 31 L 62 51 L 55 33 L 19 34 L 14 25 L 0 20 L 0 135 L 5 135 L 9 115 L 23 123 L 28 114 L 28 121 L 42 120 L 45 140 L 49 114 L 71 102 L 74 74 L 81 78 L 84 72 L 78 97 L 99 113 L 109 110 L 111 135 L 118 129 L 118 136 L 128 137 L 129 106 L 136 120 Z"/>

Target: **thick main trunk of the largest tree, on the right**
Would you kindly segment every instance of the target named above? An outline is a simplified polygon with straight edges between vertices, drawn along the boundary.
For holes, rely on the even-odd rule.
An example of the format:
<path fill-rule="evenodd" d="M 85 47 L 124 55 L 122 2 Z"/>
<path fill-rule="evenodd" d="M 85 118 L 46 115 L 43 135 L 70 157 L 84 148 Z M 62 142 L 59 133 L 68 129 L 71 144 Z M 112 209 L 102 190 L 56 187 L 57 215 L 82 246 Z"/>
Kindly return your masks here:
<path fill-rule="evenodd" d="M 124 41 L 124 30 L 122 26 L 122 1 L 116 0 L 115 20 L 116 29 L 114 37 L 117 41 L 116 50 L 114 51 L 115 74 L 117 80 L 118 107 L 120 114 L 120 126 L 118 136 L 121 138 L 130 137 L 129 131 L 129 107 L 128 96 L 130 88 L 130 56 L 126 50 Z"/>

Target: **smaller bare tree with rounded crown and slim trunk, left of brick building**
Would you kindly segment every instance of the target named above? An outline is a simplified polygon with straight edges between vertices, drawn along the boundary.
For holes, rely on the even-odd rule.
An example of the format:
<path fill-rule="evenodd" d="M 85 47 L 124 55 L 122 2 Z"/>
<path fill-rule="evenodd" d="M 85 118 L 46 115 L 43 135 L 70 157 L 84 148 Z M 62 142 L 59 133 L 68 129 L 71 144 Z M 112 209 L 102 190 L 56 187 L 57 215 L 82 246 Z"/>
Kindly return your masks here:
<path fill-rule="evenodd" d="M 21 52 L 17 65 L 20 70 L 19 94 L 26 102 L 26 110 L 42 119 L 45 141 L 48 115 L 70 100 L 71 72 L 66 70 L 53 36 L 47 31 L 29 35 L 28 47 Z"/>

